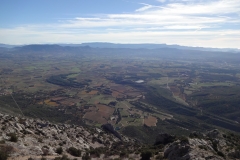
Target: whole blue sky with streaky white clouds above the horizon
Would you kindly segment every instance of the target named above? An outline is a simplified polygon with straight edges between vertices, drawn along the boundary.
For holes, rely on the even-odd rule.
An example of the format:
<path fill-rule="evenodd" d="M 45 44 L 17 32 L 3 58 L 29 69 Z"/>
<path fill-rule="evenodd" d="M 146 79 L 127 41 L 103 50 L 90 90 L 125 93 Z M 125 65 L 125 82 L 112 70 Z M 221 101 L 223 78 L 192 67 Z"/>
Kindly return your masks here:
<path fill-rule="evenodd" d="M 0 0 L 0 43 L 240 48 L 240 0 Z"/>

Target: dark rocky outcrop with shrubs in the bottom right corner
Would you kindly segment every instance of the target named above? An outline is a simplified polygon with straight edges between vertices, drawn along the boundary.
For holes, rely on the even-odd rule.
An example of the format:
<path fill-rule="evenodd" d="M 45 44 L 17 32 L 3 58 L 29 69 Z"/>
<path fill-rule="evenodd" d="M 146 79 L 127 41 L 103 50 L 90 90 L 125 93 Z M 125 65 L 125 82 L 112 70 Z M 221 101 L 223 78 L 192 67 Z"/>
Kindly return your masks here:
<path fill-rule="evenodd" d="M 170 160 L 240 159 L 240 139 L 215 129 L 206 134 L 193 132 L 165 146 L 164 157 Z"/>

